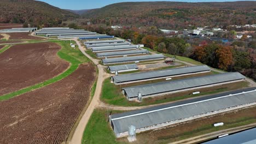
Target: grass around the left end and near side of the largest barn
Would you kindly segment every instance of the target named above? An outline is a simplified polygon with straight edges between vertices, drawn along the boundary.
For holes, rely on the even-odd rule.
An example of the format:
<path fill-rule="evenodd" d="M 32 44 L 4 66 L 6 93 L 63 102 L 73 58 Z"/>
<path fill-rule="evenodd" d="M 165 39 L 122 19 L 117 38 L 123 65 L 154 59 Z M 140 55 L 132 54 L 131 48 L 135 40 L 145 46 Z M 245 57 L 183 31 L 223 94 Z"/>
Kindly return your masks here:
<path fill-rule="evenodd" d="M 242 125 L 255 123 L 255 112 L 256 106 L 172 125 L 172 127 L 165 129 L 145 131 L 136 134 L 137 141 L 133 143 L 170 143 L 211 133 L 213 131 L 240 127 Z M 113 113 L 115 113 L 115 111 Z M 129 143 L 126 137 L 117 139 L 114 136 L 107 119 L 107 110 L 94 110 L 85 128 L 82 143 Z M 213 127 L 212 124 L 217 122 L 224 122 L 224 126 Z"/>

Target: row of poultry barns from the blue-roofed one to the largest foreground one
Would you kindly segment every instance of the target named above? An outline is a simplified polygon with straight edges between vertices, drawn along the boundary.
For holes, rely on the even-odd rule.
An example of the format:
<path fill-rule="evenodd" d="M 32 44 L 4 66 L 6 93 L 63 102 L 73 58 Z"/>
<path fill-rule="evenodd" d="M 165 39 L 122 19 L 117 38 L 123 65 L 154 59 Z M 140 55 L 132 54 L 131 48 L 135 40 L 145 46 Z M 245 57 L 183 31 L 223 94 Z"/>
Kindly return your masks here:
<path fill-rule="evenodd" d="M 102 64 L 108 65 L 110 73 L 115 73 L 110 79 L 114 85 L 121 85 L 121 92 L 129 101 L 139 100 L 140 97 L 159 97 L 184 91 L 198 91 L 200 88 L 221 86 L 246 79 L 245 76 L 237 72 L 190 76 L 190 78 L 182 79 L 182 76 L 211 72 L 211 68 L 207 65 L 119 75 L 118 73 L 121 72 L 138 70 L 137 63 L 139 62 L 161 61 L 166 57 L 162 54 L 151 55 L 140 45 L 132 45 L 121 39 L 84 41 L 84 45 L 88 50 L 94 52 L 97 58 L 102 58 Z M 171 58 L 171 61 L 174 60 Z M 171 80 L 173 77 L 181 77 L 181 79 Z M 166 79 L 166 81 L 123 87 L 128 83 L 159 79 Z M 114 130 L 115 136 L 123 137 L 129 135 L 131 125 L 135 126 L 136 133 L 139 133 L 220 112 L 241 109 L 242 107 L 255 105 L 255 102 L 256 88 L 246 88 L 109 115 L 109 124 Z"/>

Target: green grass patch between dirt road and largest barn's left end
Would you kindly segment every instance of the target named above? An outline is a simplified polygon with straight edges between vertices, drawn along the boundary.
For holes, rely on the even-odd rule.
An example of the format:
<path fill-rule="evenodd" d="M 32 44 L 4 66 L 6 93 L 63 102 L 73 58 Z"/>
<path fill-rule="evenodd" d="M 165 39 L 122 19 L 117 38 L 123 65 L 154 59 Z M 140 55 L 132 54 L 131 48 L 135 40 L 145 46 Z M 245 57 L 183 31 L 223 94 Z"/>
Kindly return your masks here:
<path fill-rule="evenodd" d="M 108 124 L 107 110 L 95 109 L 84 130 L 83 144 L 114 144 L 119 143 L 115 140 L 113 130 Z"/>

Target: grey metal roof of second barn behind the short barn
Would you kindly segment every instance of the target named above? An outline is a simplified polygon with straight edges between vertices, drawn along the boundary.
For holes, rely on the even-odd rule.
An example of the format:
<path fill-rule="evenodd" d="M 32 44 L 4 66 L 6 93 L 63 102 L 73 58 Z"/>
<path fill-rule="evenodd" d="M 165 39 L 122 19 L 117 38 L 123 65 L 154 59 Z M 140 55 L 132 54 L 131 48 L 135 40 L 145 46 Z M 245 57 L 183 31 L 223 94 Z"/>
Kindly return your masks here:
<path fill-rule="evenodd" d="M 121 55 L 138 55 L 141 53 L 147 53 L 147 50 L 132 50 L 132 51 L 114 51 L 114 52 L 101 52 L 96 53 L 97 57 L 104 57 L 104 56 L 121 56 Z"/>

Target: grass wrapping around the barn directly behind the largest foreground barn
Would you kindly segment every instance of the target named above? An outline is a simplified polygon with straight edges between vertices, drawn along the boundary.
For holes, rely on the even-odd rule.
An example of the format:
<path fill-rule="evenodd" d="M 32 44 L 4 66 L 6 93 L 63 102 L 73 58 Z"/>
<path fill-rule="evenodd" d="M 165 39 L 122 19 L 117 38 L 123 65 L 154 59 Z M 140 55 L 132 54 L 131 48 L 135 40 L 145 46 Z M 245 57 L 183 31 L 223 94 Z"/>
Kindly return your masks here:
<path fill-rule="evenodd" d="M 179 78 L 176 77 L 176 79 L 181 79 L 181 77 Z M 114 85 L 114 83 L 111 83 L 110 81 L 111 81 L 110 78 L 108 78 L 103 82 L 101 100 L 104 103 L 107 103 L 110 105 L 118 105 L 118 106 L 145 106 L 145 105 L 161 104 L 161 103 L 167 103 L 170 101 L 177 101 L 182 99 L 199 97 L 202 95 L 216 94 L 220 92 L 231 91 L 234 89 L 248 87 L 248 82 L 245 82 L 245 81 L 229 83 L 226 85 L 221 85 L 216 87 L 201 88 L 200 94 L 191 94 L 194 91 L 198 91 L 198 90 L 192 90 L 192 91 L 162 95 L 159 97 L 144 98 L 141 103 L 138 103 L 136 101 L 127 100 L 125 96 L 121 93 L 121 88 L 135 86 L 139 84 L 152 83 L 152 81 L 140 82 L 139 84 L 133 83 L 133 84 L 127 84 L 127 85 Z M 161 80 L 155 80 L 153 82 L 157 82 L 157 81 L 161 81 Z"/>

